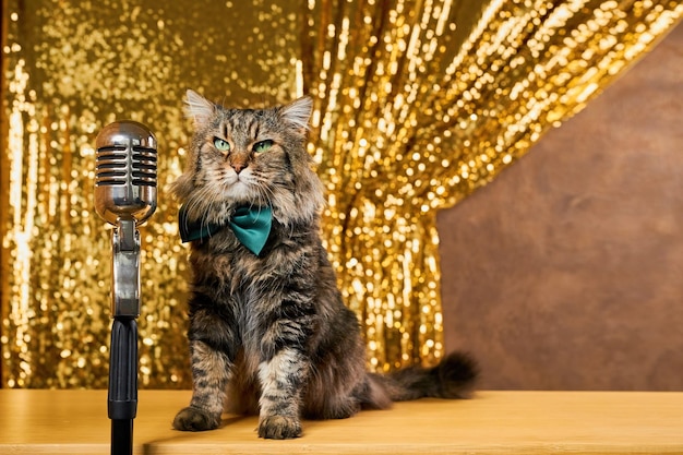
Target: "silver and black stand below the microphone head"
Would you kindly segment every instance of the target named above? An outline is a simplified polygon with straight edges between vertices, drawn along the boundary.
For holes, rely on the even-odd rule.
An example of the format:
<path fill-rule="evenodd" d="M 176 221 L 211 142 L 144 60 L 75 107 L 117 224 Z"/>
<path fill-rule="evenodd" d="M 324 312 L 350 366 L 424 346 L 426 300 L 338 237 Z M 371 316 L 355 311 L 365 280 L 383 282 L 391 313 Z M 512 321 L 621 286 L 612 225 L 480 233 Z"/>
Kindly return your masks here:
<path fill-rule="evenodd" d="M 119 218 L 111 236 L 111 349 L 109 398 L 111 455 L 132 455 L 137 412 L 137 322 L 140 315 L 140 231 L 134 218 Z"/>

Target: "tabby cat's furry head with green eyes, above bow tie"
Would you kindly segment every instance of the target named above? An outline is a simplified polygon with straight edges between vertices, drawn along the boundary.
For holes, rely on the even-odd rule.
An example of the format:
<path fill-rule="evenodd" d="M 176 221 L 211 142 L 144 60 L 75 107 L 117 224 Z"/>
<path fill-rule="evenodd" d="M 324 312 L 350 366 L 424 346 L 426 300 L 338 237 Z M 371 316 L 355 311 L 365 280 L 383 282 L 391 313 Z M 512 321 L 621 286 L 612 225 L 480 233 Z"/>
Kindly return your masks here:
<path fill-rule="evenodd" d="M 273 208 L 284 224 L 309 219 L 322 189 L 305 151 L 308 97 L 269 109 L 227 109 L 188 91 L 195 132 L 185 171 L 171 187 L 190 217 L 223 221 L 240 206 Z"/>

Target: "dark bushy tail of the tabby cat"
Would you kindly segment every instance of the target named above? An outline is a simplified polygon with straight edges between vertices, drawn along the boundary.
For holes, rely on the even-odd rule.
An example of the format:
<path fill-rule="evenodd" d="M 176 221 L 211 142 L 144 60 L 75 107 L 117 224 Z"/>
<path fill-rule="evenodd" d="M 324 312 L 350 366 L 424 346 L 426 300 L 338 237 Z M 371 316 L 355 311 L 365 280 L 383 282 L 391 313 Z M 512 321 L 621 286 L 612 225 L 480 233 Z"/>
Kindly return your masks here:
<path fill-rule="evenodd" d="M 453 352 L 435 367 L 408 367 L 388 374 L 371 373 L 370 381 L 383 388 L 392 402 L 406 402 L 426 397 L 469 398 L 478 376 L 479 367 L 472 357 Z"/>

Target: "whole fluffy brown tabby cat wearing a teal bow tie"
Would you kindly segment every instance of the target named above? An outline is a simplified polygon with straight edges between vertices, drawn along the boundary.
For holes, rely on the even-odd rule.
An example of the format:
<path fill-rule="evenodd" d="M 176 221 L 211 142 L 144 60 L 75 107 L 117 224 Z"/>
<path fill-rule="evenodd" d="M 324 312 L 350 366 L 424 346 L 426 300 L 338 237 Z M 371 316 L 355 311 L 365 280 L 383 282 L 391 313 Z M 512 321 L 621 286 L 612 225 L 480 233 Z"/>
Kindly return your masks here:
<path fill-rule="evenodd" d="M 307 153 L 312 99 L 230 109 L 188 91 L 194 135 L 171 184 L 191 242 L 188 331 L 193 393 L 173 428 L 216 429 L 259 415 L 259 436 L 302 434 L 301 418 L 342 419 L 420 397 L 466 398 L 477 363 L 366 370 L 356 314 L 320 237 L 323 187 Z"/>

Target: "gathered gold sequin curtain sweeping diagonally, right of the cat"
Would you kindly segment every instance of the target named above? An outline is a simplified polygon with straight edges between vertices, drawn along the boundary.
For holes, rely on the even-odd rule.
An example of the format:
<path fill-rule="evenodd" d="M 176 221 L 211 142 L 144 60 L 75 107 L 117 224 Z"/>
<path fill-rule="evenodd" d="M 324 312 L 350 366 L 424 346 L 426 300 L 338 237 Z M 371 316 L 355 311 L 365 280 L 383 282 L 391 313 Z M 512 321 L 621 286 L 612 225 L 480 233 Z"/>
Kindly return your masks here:
<path fill-rule="evenodd" d="M 374 367 L 443 354 L 436 211 L 582 109 L 682 12 L 678 1 L 309 1 L 302 73 L 325 237 Z"/>

